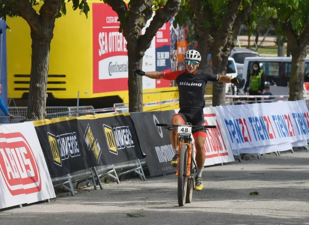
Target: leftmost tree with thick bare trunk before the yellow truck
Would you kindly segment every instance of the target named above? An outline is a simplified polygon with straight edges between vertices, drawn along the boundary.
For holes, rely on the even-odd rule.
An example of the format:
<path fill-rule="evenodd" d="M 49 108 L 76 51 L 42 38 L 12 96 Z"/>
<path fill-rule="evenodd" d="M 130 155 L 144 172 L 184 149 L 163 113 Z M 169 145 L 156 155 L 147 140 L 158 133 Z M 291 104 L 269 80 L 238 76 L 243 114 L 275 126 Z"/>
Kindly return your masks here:
<path fill-rule="evenodd" d="M 80 13 L 84 13 L 87 17 L 89 11 L 87 1 L 72 0 L 72 2 L 73 9 L 79 9 Z M 65 0 L 0 0 L 0 3 L 1 18 L 20 16 L 30 27 L 32 55 L 27 119 L 44 119 L 50 42 L 53 39 L 56 18 L 66 14 L 66 2 Z"/>

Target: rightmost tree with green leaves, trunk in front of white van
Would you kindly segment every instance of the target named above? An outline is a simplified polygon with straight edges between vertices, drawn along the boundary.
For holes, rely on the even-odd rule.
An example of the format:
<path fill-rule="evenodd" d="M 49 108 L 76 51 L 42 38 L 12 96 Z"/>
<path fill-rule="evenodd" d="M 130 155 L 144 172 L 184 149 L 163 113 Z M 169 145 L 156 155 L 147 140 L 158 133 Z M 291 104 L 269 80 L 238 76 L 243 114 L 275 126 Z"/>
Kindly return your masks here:
<path fill-rule="evenodd" d="M 289 100 L 301 100 L 304 95 L 305 57 L 309 51 L 309 1 L 272 0 L 269 4 L 277 9 L 277 15 L 272 16 L 271 22 L 277 34 L 286 37 L 292 55 Z"/>

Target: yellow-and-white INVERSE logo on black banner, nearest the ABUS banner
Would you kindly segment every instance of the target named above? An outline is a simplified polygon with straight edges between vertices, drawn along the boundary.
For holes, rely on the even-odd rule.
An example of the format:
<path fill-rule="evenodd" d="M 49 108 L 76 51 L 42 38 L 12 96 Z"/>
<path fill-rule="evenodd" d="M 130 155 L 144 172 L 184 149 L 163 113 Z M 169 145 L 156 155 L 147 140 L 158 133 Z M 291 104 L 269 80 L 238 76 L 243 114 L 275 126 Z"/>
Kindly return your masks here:
<path fill-rule="evenodd" d="M 53 155 L 53 161 L 58 166 L 62 165 L 62 160 L 69 157 L 80 156 L 76 132 L 53 135 L 47 132 L 50 150 Z"/>

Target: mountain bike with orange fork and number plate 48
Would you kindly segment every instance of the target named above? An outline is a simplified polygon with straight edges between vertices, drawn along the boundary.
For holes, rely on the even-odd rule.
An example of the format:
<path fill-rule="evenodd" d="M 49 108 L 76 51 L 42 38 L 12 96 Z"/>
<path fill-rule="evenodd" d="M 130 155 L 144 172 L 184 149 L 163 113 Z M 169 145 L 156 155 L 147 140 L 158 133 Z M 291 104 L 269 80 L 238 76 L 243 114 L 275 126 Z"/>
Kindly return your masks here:
<path fill-rule="evenodd" d="M 194 185 L 194 176 L 197 172 L 197 165 L 194 160 L 194 151 L 191 134 L 193 131 L 208 130 L 207 128 L 216 128 L 216 126 L 192 126 L 190 123 L 184 125 L 156 124 L 168 130 L 177 130 L 179 137 L 178 158 L 176 176 L 178 177 L 178 205 L 184 206 L 184 203 L 192 201 Z M 194 166 L 193 166 L 194 165 Z"/>

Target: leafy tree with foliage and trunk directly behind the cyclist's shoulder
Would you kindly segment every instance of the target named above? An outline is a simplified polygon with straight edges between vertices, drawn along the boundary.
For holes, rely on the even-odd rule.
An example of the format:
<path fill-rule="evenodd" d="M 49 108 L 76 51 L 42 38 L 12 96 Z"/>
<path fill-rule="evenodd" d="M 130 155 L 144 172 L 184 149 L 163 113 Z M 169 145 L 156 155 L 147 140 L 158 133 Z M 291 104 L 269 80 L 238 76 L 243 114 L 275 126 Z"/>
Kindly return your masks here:
<path fill-rule="evenodd" d="M 180 7 L 176 22 L 180 26 L 191 19 L 195 25 L 197 50 L 202 60 L 211 54 L 213 72 L 225 74 L 228 56 L 235 47 L 241 25 L 250 21 L 252 30 L 257 26 L 258 16 L 276 15 L 276 10 L 266 0 L 186 0 Z M 249 20 L 248 20 L 249 19 Z M 201 68 L 205 65 L 202 61 Z M 225 84 L 215 82 L 213 105 L 225 104 Z"/>

